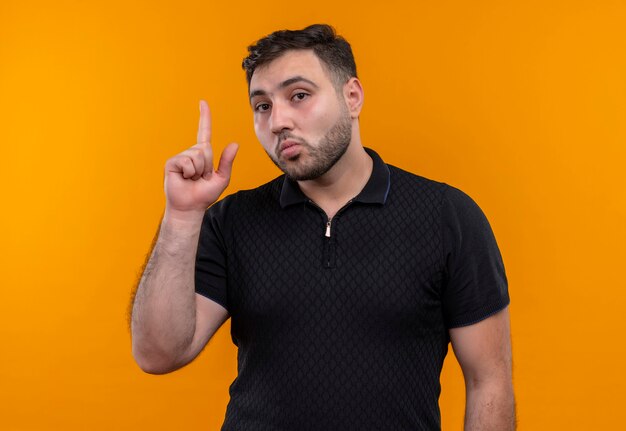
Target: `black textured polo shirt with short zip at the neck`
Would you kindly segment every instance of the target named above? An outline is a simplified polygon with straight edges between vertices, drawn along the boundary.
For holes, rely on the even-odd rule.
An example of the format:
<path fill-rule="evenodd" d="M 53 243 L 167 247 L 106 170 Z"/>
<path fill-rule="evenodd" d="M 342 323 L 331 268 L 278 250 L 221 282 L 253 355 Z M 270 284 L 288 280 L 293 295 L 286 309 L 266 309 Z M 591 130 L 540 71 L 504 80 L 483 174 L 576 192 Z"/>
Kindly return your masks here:
<path fill-rule="evenodd" d="M 196 291 L 238 347 L 223 430 L 438 430 L 448 330 L 508 305 L 480 208 L 367 151 L 330 225 L 285 176 L 207 210 Z"/>

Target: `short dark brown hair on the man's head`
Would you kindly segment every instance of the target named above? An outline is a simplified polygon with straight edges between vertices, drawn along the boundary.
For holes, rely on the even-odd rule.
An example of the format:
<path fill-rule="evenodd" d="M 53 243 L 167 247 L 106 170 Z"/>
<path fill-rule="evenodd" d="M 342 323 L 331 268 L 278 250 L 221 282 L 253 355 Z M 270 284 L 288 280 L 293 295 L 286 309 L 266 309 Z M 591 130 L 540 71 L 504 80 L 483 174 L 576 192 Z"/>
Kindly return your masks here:
<path fill-rule="evenodd" d="M 313 24 L 302 30 L 279 30 L 248 47 L 242 67 L 248 85 L 257 67 L 268 64 L 290 50 L 310 49 L 330 72 L 336 86 L 356 77 L 356 64 L 350 44 L 326 24 Z"/>

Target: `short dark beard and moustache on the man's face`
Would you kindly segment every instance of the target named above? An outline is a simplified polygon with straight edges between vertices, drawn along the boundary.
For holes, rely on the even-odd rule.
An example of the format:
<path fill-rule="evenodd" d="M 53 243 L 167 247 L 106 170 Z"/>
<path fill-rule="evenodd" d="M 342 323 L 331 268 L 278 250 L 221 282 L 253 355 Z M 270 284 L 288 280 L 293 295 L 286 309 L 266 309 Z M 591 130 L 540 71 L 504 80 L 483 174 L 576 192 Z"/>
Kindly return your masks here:
<path fill-rule="evenodd" d="M 292 139 L 303 147 L 299 154 L 287 160 L 281 159 L 280 143 L 285 139 Z M 308 181 L 321 177 L 328 172 L 345 154 L 352 140 L 352 119 L 347 110 L 341 113 L 337 122 L 319 140 L 317 145 L 311 145 L 306 140 L 281 133 L 276 147 L 276 154 L 267 155 L 272 162 L 293 181 Z"/>

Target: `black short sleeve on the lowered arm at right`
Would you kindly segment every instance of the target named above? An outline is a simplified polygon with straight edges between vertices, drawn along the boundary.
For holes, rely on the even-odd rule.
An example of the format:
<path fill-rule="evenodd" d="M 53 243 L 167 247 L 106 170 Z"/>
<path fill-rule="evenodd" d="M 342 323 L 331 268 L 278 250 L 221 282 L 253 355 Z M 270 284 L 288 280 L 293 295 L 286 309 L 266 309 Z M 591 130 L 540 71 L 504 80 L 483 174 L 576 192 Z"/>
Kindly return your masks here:
<path fill-rule="evenodd" d="M 504 264 L 487 218 L 468 195 L 446 185 L 442 216 L 444 318 L 448 328 L 467 326 L 509 304 Z"/>

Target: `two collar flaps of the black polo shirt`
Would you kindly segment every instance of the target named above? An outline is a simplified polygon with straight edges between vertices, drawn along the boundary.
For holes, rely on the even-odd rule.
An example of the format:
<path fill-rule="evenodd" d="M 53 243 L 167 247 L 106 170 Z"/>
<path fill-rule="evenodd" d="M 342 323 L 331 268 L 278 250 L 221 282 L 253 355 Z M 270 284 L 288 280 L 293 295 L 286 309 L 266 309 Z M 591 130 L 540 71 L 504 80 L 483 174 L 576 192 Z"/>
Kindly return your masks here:
<path fill-rule="evenodd" d="M 387 201 L 389 187 L 391 186 L 389 168 L 374 150 L 365 148 L 365 151 L 374 162 L 372 165 L 372 174 L 365 184 L 365 187 L 363 187 L 363 190 L 354 198 L 354 202 L 383 205 Z M 309 198 L 300 190 L 298 182 L 285 176 L 280 192 L 280 206 L 285 208 L 289 205 L 307 202 L 308 200 Z"/>

